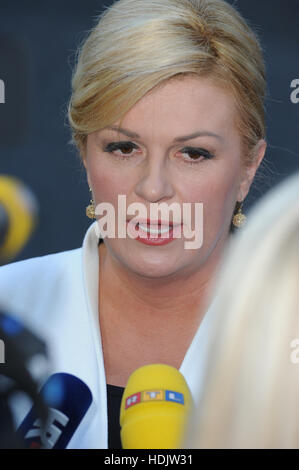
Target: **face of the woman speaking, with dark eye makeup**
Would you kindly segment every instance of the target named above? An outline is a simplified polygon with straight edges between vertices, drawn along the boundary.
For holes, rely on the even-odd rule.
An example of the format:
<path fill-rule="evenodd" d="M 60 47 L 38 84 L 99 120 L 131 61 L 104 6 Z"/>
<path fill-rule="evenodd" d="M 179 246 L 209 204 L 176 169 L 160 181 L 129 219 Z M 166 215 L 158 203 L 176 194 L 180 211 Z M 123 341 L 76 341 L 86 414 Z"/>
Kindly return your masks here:
<path fill-rule="evenodd" d="M 164 245 L 118 238 L 116 230 L 115 238 L 105 238 L 114 261 L 140 276 L 162 278 L 186 276 L 213 258 L 228 237 L 236 201 L 245 199 L 265 151 L 262 147 L 252 167 L 244 168 L 235 119 L 227 91 L 206 78 L 185 77 L 144 96 L 114 124 L 122 131 L 106 128 L 88 135 L 84 165 L 96 206 L 112 204 L 117 217 L 118 196 L 123 195 L 126 208 L 142 203 L 150 218 L 152 204 L 176 203 L 182 215 L 183 204 L 192 203 L 190 228 L 202 231 L 201 246 L 186 249 L 190 239 L 184 237 L 183 226 L 182 237 Z M 200 135 L 182 139 L 195 133 Z M 194 203 L 202 203 L 200 227 Z"/>

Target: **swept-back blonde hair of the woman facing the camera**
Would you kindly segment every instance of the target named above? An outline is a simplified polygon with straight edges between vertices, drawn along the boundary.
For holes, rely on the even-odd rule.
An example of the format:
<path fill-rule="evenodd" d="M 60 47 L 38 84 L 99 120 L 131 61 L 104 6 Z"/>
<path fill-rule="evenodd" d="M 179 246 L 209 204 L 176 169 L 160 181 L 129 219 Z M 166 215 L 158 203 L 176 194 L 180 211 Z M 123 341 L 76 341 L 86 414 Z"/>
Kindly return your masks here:
<path fill-rule="evenodd" d="M 256 34 L 223 0 L 118 0 L 106 8 L 77 51 L 71 142 L 84 157 L 89 133 L 122 119 L 164 81 L 193 74 L 232 92 L 250 163 L 266 133 L 265 65 Z"/>

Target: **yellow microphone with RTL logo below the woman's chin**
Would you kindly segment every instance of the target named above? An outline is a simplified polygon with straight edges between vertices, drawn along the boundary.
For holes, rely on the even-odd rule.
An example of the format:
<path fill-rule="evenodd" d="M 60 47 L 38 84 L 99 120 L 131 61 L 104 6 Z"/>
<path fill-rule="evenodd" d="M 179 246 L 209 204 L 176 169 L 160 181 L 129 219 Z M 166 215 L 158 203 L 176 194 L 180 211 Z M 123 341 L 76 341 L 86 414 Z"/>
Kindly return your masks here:
<path fill-rule="evenodd" d="M 150 364 L 129 377 L 120 408 L 123 449 L 179 449 L 193 407 L 184 376 Z"/>

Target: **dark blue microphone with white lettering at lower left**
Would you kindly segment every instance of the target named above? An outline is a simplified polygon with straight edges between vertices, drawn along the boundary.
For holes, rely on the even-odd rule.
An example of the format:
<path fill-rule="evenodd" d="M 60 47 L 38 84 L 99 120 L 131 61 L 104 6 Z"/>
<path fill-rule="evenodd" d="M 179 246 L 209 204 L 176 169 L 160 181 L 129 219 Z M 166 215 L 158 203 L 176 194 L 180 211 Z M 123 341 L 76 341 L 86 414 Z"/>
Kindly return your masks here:
<path fill-rule="evenodd" d="M 17 434 L 29 449 L 65 449 L 92 402 L 87 385 L 71 374 L 52 375 L 40 391 L 49 413 L 45 425 L 33 406 Z"/>

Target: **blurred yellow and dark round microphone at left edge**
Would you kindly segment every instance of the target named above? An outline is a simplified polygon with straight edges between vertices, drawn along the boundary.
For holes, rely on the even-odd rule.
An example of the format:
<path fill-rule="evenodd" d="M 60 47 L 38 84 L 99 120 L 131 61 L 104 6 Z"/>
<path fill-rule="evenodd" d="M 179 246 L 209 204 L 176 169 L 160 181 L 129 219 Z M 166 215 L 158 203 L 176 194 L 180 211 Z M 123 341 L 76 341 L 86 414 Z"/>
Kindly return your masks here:
<path fill-rule="evenodd" d="M 19 179 L 0 175 L 0 265 L 12 261 L 37 223 L 38 203 Z"/>

